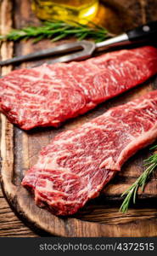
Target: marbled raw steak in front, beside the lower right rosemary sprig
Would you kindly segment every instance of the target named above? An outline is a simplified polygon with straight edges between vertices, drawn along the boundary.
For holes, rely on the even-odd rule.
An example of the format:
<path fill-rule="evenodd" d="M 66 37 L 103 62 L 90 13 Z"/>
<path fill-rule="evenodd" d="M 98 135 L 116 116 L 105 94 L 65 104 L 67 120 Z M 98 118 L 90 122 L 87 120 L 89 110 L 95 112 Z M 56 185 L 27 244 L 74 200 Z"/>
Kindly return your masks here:
<path fill-rule="evenodd" d="M 22 185 L 32 190 L 37 206 L 73 214 L 156 137 L 157 90 L 54 137 Z"/>

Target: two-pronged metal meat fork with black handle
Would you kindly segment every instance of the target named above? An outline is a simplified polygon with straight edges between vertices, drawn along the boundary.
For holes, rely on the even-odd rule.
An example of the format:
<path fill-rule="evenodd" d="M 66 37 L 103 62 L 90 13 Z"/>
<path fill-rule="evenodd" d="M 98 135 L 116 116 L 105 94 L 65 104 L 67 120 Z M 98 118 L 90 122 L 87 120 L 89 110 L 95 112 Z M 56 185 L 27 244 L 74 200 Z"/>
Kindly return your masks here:
<path fill-rule="evenodd" d="M 0 61 L 0 66 L 6 66 L 9 64 L 20 63 L 24 61 L 31 61 L 43 57 L 49 57 L 53 55 L 61 55 L 53 60 L 49 61 L 50 63 L 56 62 L 69 62 L 69 61 L 80 61 L 87 59 L 93 52 L 96 50 L 109 49 L 111 47 L 126 45 L 126 44 L 135 44 L 138 42 L 149 42 L 150 40 L 154 41 L 157 38 L 157 20 L 149 22 L 143 26 L 138 26 L 137 28 L 125 32 L 115 38 L 110 38 L 101 43 L 93 43 L 91 41 L 78 41 L 69 44 L 62 44 L 52 49 L 42 49 L 36 51 L 30 55 L 22 55 L 19 57 L 14 57 L 6 61 Z M 67 55 L 67 53 L 70 53 Z"/>

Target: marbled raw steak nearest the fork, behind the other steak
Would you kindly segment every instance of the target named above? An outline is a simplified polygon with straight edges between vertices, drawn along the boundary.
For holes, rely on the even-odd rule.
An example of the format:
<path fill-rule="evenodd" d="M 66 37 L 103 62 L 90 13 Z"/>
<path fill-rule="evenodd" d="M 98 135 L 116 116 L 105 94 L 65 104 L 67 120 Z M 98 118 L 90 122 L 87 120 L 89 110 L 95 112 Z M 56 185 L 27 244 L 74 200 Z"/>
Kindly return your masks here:
<path fill-rule="evenodd" d="M 151 46 L 87 61 L 20 69 L 0 79 L 0 109 L 25 130 L 59 126 L 156 72 L 157 49 Z"/>

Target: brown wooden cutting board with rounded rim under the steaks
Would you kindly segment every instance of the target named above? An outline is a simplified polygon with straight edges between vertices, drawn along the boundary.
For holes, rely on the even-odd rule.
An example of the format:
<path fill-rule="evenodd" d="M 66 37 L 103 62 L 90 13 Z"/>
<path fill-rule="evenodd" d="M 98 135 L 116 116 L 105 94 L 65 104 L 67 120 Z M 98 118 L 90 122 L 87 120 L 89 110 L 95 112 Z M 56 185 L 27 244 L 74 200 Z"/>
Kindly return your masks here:
<path fill-rule="evenodd" d="M 147 10 L 149 1 L 132 0 L 128 3 L 128 1 L 121 0 L 104 2 L 109 3 L 109 5 L 106 8 L 102 7 L 100 9 L 100 15 L 105 14 L 105 17 L 108 17 L 105 21 L 106 26 L 112 32 L 121 32 L 128 27 L 142 24 L 146 20 L 153 20 L 155 17 L 157 19 L 157 13 L 154 14 L 153 6 L 155 4 L 155 7 L 157 7 L 156 0 L 154 3 L 151 3 L 152 11 L 150 11 L 150 8 Z M 8 29 L 12 26 L 12 19 L 14 19 L 14 26 L 16 28 L 32 23 L 38 24 L 39 21 L 31 13 L 28 0 L 14 1 L 14 17 L 11 15 L 11 8 L 10 12 L 8 12 L 8 3 L 11 6 L 11 1 L 3 1 L 2 31 L 6 31 L 6 26 L 8 26 Z M 113 3 L 114 7 L 112 6 Z M 129 10 L 128 13 L 126 12 L 127 10 Z M 119 19 L 120 14 L 121 16 L 124 15 L 125 23 L 121 22 L 122 18 L 121 20 Z M 7 22 L 6 15 L 8 15 Z M 133 20 L 136 17 L 138 19 L 134 22 Z M 118 21 L 113 24 L 109 22 L 109 18 Z M 59 42 L 59 44 L 64 42 Z M 13 55 L 13 49 L 15 55 L 24 55 L 37 49 L 43 49 L 43 47 L 53 47 L 53 45 L 47 40 L 38 44 L 32 44 L 30 40 L 14 44 L 14 46 L 13 44 L 4 43 L 1 55 L 4 59 Z M 37 63 L 41 64 L 42 62 L 38 61 Z M 35 62 L 25 63 L 14 68 L 31 67 L 34 65 Z M 11 67 L 3 67 L 3 75 L 10 70 Z M 99 105 L 98 108 L 81 117 L 67 121 L 59 129 L 51 127 L 37 128 L 25 132 L 11 125 L 5 116 L 1 115 L 1 181 L 3 193 L 10 206 L 14 209 L 14 212 L 23 219 L 25 224 L 28 224 L 31 229 L 44 230 L 53 236 L 157 236 L 157 209 L 154 203 L 157 195 L 155 176 L 146 186 L 144 193 L 139 193 L 136 207 L 132 206 L 126 214 L 118 212 L 121 206 L 121 193 L 143 172 L 143 160 L 149 156 L 149 148 L 141 150 L 128 160 L 122 167 L 121 172 L 104 188 L 102 194 L 97 199 L 89 201 L 80 212 L 77 212 L 71 218 L 58 218 L 47 210 L 36 207 L 31 194 L 20 186 L 25 171 L 36 163 L 41 148 L 46 146 L 59 132 L 77 127 L 104 113 L 108 108 L 131 101 L 147 93 L 147 91 L 155 89 L 157 89 L 156 77 L 138 86 L 136 89 Z"/>

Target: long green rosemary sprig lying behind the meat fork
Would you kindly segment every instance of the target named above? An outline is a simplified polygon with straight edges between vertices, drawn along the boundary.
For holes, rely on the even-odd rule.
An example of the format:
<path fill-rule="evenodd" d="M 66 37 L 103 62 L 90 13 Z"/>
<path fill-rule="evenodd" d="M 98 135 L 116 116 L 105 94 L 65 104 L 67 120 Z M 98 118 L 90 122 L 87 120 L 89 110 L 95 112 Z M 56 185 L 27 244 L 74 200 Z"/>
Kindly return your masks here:
<path fill-rule="evenodd" d="M 82 25 L 74 21 L 64 22 L 62 20 L 46 21 L 43 22 L 42 26 L 27 26 L 21 29 L 13 29 L 6 36 L 0 35 L 0 40 L 18 41 L 34 38 L 36 43 L 46 38 L 54 42 L 63 38 L 76 37 L 79 40 L 91 38 L 95 42 L 101 42 L 113 36 L 103 26 L 98 26 L 93 22 L 88 24 Z"/>

